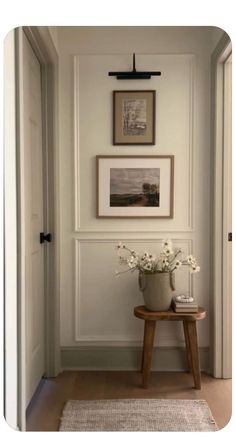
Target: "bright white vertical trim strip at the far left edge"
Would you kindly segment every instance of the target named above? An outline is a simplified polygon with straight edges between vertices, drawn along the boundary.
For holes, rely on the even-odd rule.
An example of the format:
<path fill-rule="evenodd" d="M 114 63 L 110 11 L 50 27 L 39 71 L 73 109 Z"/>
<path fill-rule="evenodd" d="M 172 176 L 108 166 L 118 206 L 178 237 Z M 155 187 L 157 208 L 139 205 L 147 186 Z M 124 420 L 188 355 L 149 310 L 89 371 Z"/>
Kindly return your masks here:
<path fill-rule="evenodd" d="M 15 31 L 4 40 L 4 261 L 5 261 L 5 418 L 18 427 L 17 353 L 17 184 Z"/>

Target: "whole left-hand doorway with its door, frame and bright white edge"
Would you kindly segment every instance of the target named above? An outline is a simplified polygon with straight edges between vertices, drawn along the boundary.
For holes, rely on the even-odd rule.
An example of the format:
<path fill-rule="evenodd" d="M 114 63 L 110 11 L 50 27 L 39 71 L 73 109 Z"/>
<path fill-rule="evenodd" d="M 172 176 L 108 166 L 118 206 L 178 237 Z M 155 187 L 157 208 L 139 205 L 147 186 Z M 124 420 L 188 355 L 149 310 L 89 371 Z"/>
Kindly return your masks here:
<path fill-rule="evenodd" d="M 11 59 L 6 58 L 5 83 L 11 82 L 6 87 L 5 143 L 11 146 L 6 153 L 11 205 L 6 205 L 5 217 L 15 213 L 16 229 L 7 234 L 5 249 L 4 415 L 11 427 L 24 431 L 26 408 L 38 382 L 60 372 L 58 59 L 48 28 L 11 31 L 7 49 Z M 7 183 L 9 179 L 7 174 Z M 52 242 L 40 244 L 39 234 L 49 231 Z"/>

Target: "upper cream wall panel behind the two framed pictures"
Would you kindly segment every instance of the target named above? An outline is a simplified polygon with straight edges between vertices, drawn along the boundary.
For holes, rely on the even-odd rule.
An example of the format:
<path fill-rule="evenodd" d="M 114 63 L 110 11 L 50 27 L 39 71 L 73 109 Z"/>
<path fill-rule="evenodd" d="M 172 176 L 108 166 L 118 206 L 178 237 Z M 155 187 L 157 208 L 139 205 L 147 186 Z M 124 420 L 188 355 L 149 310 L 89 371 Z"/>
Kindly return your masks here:
<path fill-rule="evenodd" d="M 74 60 L 75 231 L 192 229 L 193 64 L 192 55 L 138 55 L 149 70 L 161 70 L 150 81 L 117 81 L 110 70 L 129 69 L 130 56 L 77 56 Z M 156 90 L 156 145 L 112 145 L 112 91 Z M 98 154 L 175 156 L 174 218 L 96 218 L 96 162 Z"/>

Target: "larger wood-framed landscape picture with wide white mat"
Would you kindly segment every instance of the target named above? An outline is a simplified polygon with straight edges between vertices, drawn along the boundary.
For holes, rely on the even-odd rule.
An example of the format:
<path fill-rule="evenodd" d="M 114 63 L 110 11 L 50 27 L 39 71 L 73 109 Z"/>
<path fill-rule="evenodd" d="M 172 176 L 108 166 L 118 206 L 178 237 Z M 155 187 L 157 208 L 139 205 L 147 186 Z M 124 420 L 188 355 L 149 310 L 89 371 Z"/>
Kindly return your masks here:
<path fill-rule="evenodd" d="M 173 217 L 174 156 L 97 159 L 97 217 Z"/>

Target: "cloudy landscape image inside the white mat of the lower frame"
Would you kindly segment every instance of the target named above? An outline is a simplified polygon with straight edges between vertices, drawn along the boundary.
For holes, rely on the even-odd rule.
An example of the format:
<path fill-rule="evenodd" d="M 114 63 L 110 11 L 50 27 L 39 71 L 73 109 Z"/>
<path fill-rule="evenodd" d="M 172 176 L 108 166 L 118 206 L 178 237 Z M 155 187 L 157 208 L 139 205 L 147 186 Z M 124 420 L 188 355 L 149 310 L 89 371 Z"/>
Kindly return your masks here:
<path fill-rule="evenodd" d="M 111 168 L 111 207 L 159 207 L 159 168 Z"/>

